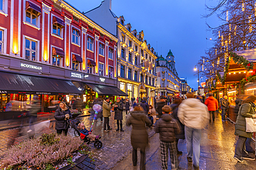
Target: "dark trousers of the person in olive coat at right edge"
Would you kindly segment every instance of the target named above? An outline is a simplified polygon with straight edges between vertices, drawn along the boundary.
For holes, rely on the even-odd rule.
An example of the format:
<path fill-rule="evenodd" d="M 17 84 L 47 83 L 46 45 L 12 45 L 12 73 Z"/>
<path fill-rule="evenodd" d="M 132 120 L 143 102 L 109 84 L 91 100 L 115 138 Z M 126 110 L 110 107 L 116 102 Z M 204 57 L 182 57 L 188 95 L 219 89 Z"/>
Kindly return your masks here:
<path fill-rule="evenodd" d="M 246 151 L 246 137 L 238 136 L 237 145 L 235 146 L 235 157 L 239 159 L 249 157 Z"/>

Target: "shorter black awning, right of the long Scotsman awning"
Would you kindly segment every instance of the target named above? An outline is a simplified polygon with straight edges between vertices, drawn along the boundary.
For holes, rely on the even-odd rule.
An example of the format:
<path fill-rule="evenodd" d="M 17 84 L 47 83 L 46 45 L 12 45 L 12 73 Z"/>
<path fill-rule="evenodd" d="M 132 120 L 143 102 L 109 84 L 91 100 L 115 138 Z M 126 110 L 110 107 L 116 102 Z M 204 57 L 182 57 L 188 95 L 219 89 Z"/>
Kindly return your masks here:
<path fill-rule="evenodd" d="M 86 83 L 91 89 L 98 93 L 99 96 L 128 96 L 125 92 L 118 89 L 118 87 L 112 87 L 108 85 L 95 85 Z"/>

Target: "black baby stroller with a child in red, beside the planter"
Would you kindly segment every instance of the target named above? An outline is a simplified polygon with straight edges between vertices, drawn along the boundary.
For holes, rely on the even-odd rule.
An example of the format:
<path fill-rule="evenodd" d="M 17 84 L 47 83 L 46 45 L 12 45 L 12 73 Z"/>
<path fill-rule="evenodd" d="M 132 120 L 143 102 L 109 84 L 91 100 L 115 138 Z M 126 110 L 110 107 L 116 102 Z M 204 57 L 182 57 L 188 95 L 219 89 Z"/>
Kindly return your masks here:
<path fill-rule="evenodd" d="M 98 138 L 98 139 L 95 139 L 95 141 L 93 141 L 90 138 L 88 138 L 87 136 L 85 136 L 84 134 L 80 133 L 80 131 L 77 129 L 77 126 L 80 123 L 79 120 L 77 120 L 77 119 L 70 119 L 70 120 L 68 120 L 68 123 L 71 126 L 71 128 L 75 129 L 74 135 L 75 136 L 80 136 L 81 140 L 84 140 L 84 142 L 86 142 L 87 145 L 90 145 L 91 143 L 94 142 L 94 147 L 96 149 L 102 148 L 102 142 L 100 141 L 101 137 Z"/>

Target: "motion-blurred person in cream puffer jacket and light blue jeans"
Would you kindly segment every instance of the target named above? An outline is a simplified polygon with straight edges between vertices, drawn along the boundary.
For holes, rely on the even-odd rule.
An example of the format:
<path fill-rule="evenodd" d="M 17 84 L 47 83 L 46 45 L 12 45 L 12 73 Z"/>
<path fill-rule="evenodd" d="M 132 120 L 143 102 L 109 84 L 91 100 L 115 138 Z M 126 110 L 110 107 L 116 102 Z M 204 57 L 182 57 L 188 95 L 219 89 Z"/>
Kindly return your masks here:
<path fill-rule="evenodd" d="M 178 117 L 185 125 L 188 162 L 193 162 L 194 169 L 199 169 L 202 129 L 209 123 L 210 117 L 207 107 L 194 98 L 192 92 L 188 92 L 186 96 L 188 99 L 183 100 L 179 105 Z"/>

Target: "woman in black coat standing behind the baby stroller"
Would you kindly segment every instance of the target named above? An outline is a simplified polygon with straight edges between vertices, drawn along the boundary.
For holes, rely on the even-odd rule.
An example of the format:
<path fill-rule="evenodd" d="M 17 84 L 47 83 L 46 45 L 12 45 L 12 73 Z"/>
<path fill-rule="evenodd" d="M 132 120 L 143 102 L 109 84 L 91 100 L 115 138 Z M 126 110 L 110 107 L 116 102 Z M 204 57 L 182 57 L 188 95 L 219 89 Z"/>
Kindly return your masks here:
<path fill-rule="evenodd" d="M 66 103 L 60 103 L 60 107 L 55 111 L 54 118 L 56 119 L 55 129 L 57 130 L 57 134 L 64 133 L 66 136 L 69 128 L 67 120 L 72 118 L 71 112 L 66 106 Z"/>

